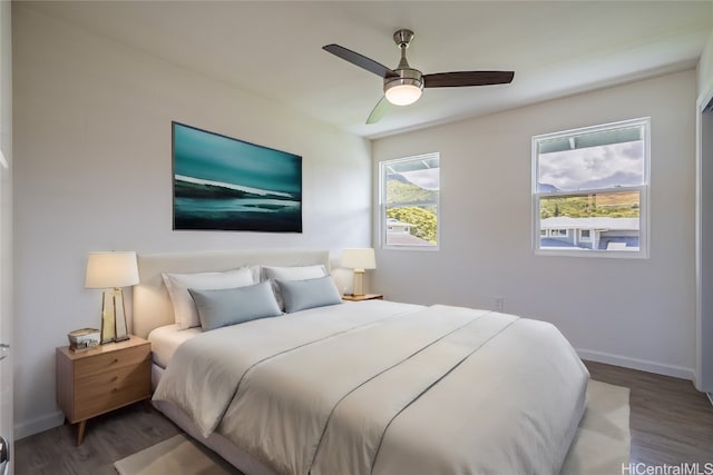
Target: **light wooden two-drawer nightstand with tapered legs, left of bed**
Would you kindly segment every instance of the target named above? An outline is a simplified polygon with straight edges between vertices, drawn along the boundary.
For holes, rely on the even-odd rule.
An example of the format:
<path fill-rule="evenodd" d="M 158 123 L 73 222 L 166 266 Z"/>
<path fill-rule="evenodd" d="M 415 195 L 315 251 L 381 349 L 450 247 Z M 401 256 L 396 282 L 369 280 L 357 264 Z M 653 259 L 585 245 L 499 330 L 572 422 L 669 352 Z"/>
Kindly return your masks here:
<path fill-rule="evenodd" d="M 152 345 L 133 336 L 86 352 L 57 348 L 57 404 L 71 424 L 77 445 L 91 417 L 152 397 Z"/>

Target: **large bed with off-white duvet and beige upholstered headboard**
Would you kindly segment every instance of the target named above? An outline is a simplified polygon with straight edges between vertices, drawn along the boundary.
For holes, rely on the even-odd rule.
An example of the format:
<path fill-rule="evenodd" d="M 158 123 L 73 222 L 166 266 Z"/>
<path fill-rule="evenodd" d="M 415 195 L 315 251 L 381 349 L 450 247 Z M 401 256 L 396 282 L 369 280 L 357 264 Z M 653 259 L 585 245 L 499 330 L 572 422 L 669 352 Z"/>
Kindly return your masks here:
<path fill-rule="evenodd" d="M 320 300 L 330 280 L 305 275 L 271 281 L 284 315 L 177 329 L 164 275 L 250 269 L 260 281 L 270 267 L 322 267 L 329 276 L 329 251 L 139 255 L 138 264 L 133 327 L 152 340 L 154 405 L 245 474 L 553 474 L 584 413 L 588 373 L 550 324 L 389 300 L 303 308 L 295 301 Z M 201 317 L 219 307 L 215 296 L 237 295 L 223 289 L 192 289 Z"/>

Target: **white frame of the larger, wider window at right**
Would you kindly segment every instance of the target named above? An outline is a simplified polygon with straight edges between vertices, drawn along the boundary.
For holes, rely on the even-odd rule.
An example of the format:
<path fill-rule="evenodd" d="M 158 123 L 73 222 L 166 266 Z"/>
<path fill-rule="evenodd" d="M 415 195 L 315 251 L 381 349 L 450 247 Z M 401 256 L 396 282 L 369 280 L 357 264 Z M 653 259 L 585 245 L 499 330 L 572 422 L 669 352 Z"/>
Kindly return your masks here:
<path fill-rule="evenodd" d="M 642 184 L 637 186 L 616 186 L 613 188 L 585 188 L 573 191 L 539 191 L 539 144 L 546 140 L 569 138 L 582 136 L 585 133 L 602 132 L 606 130 L 624 129 L 632 127 L 641 127 L 642 141 L 644 147 L 644 164 Z M 624 259 L 647 259 L 651 249 L 651 229 L 649 229 L 649 192 L 651 192 L 651 118 L 643 117 L 631 120 L 622 120 L 617 122 L 603 123 L 598 126 L 582 127 L 553 133 L 543 133 L 533 136 L 531 139 L 531 208 L 533 208 L 533 234 L 531 246 L 535 255 L 538 256 L 569 256 L 569 257 L 604 257 L 604 258 L 624 258 Z M 638 214 L 638 250 L 613 250 L 613 249 L 583 249 L 583 248 L 543 248 L 540 246 L 541 220 L 540 220 L 540 201 L 547 197 L 568 197 L 568 196 L 586 196 L 586 195 L 604 195 L 608 192 L 638 191 L 639 214 Z M 549 236 L 549 232 L 547 232 Z M 592 236 L 589 237 L 592 241 Z"/>

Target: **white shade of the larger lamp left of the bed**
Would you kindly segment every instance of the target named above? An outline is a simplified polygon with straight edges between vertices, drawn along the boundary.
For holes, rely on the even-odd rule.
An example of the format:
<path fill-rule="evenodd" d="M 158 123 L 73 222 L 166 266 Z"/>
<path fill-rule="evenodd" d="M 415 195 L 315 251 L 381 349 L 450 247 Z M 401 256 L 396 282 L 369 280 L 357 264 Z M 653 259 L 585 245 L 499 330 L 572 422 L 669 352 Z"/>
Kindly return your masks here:
<path fill-rule="evenodd" d="M 90 253 L 86 288 L 127 287 L 138 284 L 136 253 Z"/>

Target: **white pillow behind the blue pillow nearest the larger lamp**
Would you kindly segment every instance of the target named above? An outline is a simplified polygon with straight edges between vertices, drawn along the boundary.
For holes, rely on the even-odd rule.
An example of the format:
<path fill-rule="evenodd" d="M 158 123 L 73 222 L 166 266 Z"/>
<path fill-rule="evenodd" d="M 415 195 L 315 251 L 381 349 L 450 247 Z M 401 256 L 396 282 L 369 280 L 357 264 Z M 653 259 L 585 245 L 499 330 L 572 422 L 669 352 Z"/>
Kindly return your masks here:
<path fill-rule="evenodd" d="M 168 289 L 170 301 L 174 304 L 176 325 L 182 330 L 201 325 L 196 304 L 188 293 L 189 288 L 217 290 L 255 284 L 253 273 L 247 267 L 224 273 L 162 274 L 162 276 Z"/>

